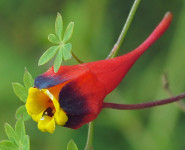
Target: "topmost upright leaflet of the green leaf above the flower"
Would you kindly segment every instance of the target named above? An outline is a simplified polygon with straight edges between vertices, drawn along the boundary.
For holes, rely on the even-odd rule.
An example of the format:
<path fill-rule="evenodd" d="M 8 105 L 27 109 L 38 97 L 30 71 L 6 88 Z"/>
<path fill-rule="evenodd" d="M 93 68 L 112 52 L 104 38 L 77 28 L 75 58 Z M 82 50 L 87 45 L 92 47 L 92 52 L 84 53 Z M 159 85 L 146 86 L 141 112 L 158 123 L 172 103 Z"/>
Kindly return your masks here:
<path fill-rule="evenodd" d="M 55 21 L 55 33 L 60 41 L 62 40 L 62 30 L 63 30 L 62 16 L 60 13 L 57 13 L 57 18 Z"/>

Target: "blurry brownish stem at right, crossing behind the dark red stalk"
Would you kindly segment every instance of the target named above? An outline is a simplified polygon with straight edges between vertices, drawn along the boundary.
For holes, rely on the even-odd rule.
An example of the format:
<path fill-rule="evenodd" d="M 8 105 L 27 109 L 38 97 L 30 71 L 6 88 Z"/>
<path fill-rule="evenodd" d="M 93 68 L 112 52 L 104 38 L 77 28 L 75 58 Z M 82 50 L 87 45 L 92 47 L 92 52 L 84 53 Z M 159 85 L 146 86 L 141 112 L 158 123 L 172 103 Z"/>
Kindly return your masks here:
<path fill-rule="evenodd" d="M 165 91 L 168 93 L 169 96 L 174 96 L 173 92 L 169 87 L 168 76 L 166 73 L 164 73 L 162 80 L 163 80 L 163 87 Z M 183 101 L 177 101 L 176 104 L 182 111 L 185 112 L 185 103 Z"/>

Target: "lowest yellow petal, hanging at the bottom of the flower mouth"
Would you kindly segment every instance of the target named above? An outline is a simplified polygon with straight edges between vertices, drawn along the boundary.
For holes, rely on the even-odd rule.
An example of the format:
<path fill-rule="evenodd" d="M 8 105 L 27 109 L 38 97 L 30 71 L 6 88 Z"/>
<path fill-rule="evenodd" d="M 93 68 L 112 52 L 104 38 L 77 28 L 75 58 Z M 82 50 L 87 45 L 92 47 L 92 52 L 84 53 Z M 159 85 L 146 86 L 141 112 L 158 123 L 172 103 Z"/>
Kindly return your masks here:
<path fill-rule="evenodd" d="M 53 133 L 55 130 L 54 117 L 44 116 L 38 122 L 38 128 L 42 132 Z"/>

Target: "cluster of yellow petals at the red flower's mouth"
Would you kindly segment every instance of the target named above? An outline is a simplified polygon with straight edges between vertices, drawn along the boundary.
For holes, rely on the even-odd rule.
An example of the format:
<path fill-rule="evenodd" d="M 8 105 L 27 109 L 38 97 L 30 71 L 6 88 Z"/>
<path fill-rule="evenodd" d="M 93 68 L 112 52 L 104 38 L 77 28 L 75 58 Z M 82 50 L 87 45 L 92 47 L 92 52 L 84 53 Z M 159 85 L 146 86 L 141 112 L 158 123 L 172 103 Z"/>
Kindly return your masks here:
<path fill-rule="evenodd" d="M 38 122 L 38 128 L 43 132 L 53 133 L 55 124 L 65 125 L 68 118 L 58 102 L 58 89 L 30 88 L 26 109 L 32 119 Z"/>

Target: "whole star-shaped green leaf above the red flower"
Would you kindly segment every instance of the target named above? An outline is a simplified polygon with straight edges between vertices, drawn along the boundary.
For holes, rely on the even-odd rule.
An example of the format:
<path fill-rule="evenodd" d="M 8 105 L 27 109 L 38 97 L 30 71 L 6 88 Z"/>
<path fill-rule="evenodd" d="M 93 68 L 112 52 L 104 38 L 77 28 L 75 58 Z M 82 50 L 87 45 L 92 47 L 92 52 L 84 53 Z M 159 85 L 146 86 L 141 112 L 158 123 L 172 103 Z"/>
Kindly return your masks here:
<path fill-rule="evenodd" d="M 44 54 L 40 57 L 38 65 L 44 65 L 48 61 L 50 61 L 55 55 L 54 61 L 54 71 L 57 72 L 62 64 L 62 60 L 68 60 L 72 57 L 71 43 L 66 43 L 69 41 L 73 34 L 74 22 L 70 22 L 65 30 L 64 36 L 63 33 L 63 21 L 60 13 L 57 13 L 56 21 L 55 21 L 55 34 L 49 34 L 48 40 L 57 44 L 56 46 L 52 46 L 47 49 Z"/>

